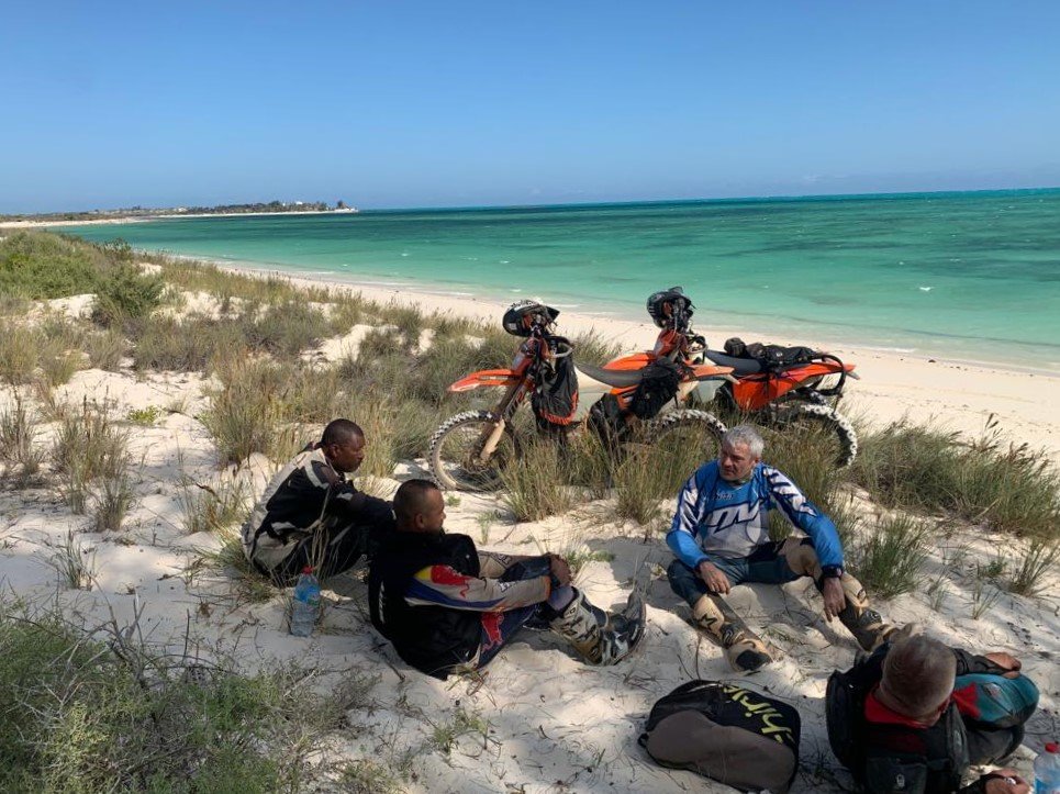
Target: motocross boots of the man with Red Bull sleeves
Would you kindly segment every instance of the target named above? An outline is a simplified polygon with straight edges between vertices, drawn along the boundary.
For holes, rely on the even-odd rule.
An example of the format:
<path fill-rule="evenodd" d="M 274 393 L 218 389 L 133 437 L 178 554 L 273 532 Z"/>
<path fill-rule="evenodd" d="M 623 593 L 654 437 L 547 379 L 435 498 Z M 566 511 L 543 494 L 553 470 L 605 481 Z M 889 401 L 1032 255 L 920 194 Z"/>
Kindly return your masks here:
<path fill-rule="evenodd" d="M 603 667 L 616 664 L 637 647 L 644 636 L 644 601 L 635 592 L 626 607 L 612 615 L 607 627 L 602 628 L 592 605 L 576 589 L 573 600 L 551 620 L 549 628 L 570 642 L 587 662 Z"/>

